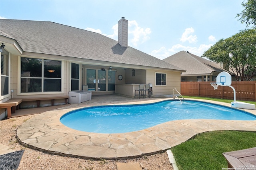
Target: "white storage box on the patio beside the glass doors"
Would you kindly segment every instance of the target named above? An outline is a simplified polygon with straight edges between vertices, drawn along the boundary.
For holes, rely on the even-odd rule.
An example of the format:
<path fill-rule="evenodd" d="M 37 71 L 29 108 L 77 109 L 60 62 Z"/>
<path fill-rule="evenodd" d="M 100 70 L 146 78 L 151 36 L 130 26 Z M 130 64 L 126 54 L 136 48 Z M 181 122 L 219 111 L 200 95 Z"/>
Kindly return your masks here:
<path fill-rule="evenodd" d="M 68 92 L 69 103 L 81 103 L 92 100 L 92 92 L 90 91 L 73 91 Z"/>

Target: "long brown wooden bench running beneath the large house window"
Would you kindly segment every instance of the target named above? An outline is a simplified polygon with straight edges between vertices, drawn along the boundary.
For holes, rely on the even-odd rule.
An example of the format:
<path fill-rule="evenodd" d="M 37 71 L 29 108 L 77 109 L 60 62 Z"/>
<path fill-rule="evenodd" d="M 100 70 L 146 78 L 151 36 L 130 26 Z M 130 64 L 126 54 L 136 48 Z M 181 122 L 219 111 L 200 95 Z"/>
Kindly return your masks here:
<path fill-rule="evenodd" d="M 13 98 L 4 103 L 0 103 L 0 108 L 7 109 L 7 118 L 12 116 L 12 113 L 15 113 L 15 110 L 19 109 L 19 104 L 21 102 L 36 101 L 37 107 L 40 107 L 41 100 L 51 100 L 52 106 L 54 106 L 54 100 L 65 99 L 65 104 L 68 104 L 68 96 L 56 96 L 56 97 L 43 97 L 43 98 Z"/>

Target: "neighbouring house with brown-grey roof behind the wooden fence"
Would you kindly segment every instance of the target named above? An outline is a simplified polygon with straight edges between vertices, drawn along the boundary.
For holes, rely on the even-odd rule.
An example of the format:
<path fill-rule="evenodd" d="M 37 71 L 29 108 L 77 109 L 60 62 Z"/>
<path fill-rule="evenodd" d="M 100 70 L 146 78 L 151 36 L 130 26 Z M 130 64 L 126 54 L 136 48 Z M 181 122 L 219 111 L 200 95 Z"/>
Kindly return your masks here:
<path fill-rule="evenodd" d="M 163 59 L 163 61 L 186 70 L 181 74 L 182 82 L 216 81 L 216 77 L 222 71 L 233 75 L 232 72 L 225 70 L 220 64 L 198 57 L 188 51 L 180 51 Z"/>

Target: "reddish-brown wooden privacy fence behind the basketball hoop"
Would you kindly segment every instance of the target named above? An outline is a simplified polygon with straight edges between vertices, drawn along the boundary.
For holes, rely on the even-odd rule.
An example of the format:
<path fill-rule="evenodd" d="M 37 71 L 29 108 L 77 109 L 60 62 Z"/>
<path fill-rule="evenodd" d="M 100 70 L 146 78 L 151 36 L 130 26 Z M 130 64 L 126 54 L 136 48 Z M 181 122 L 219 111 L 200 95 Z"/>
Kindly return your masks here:
<path fill-rule="evenodd" d="M 232 82 L 236 90 L 236 100 L 256 102 L 256 81 Z M 230 99 L 234 98 L 234 91 L 228 86 L 218 86 L 214 90 L 210 82 L 181 82 L 180 94 L 184 96 L 200 96 L 209 98 Z"/>

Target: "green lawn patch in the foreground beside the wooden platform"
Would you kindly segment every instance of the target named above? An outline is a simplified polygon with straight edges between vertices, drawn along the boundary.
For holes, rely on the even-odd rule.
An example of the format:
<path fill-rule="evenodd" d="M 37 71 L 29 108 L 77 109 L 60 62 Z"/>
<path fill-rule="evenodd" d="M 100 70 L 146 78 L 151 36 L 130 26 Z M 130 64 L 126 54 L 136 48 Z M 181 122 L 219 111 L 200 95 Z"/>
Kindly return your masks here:
<path fill-rule="evenodd" d="M 223 152 L 256 147 L 256 132 L 211 131 L 171 148 L 179 170 L 227 168 Z"/>

